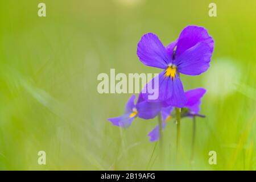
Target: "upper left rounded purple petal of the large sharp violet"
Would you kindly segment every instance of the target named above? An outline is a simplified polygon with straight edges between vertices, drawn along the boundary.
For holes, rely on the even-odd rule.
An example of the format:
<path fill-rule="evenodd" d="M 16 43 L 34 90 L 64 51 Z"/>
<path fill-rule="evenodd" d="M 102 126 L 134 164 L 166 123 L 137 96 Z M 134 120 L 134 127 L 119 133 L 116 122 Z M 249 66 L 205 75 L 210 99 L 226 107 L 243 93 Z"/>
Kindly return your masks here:
<path fill-rule="evenodd" d="M 137 55 L 143 64 L 150 67 L 164 69 L 170 63 L 166 48 L 158 36 L 152 33 L 142 36 L 138 43 Z"/>

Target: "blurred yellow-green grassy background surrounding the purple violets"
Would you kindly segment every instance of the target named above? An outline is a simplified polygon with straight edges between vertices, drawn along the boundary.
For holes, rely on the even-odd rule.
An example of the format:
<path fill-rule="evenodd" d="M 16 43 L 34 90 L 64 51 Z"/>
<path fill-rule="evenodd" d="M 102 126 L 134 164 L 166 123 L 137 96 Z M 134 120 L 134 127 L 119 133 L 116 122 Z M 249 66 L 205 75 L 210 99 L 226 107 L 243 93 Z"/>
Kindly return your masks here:
<path fill-rule="evenodd" d="M 38 17 L 44 2 L 47 16 Z M 255 1 L 44 0 L 0 2 L 0 169 L 256 169 Z M 147 134 L 157 119 L 119 129 L 106 118 L 123 113 L 130 94 L 99 94 L 99 73 L 159 73 L 144 66 L 137 43 L 154 32 L 164 45 L 189 24 L 215 41 L 208 72 L 181 75 L 185 90 L 205 87 L 197 119 L 164 130 L 164 154 Z M 154 150 L 155 149 L 155 150 Z M 46 165 L 38 151 L 46 151 Z M 208 152 L 217 152 L 209 165 Z M 162 156 L 164 162 L 160 162 Z"/>

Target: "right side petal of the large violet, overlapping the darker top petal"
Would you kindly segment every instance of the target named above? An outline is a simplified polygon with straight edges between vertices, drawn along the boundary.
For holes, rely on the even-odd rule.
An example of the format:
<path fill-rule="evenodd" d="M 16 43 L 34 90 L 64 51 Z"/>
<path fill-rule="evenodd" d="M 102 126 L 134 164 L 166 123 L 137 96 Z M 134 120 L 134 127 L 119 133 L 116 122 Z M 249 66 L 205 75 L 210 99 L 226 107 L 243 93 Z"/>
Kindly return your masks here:
<path fill-rule="evenodd" d="M 205 42 L 197 43 L 176 57 L 177 71 L 185 75 L 200 75 L 209 68 L 212 49 Z"/>

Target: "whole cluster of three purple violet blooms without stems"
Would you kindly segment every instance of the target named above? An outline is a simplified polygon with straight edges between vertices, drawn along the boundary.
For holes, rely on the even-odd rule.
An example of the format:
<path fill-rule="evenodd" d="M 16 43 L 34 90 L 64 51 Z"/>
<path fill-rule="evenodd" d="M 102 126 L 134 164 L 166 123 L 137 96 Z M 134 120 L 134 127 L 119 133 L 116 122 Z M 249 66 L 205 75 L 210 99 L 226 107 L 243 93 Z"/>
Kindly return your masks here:
<path fill-rule="evenodd" d="M 136 104 L 136 96 L 131 96 L 125 114 L 108 120 L 115 126 L 129 127 L 135 117 L 151 119 L 160 114 L 164 128 L 167 121 L 175 118 L 172 114 L 174 107 L 182 108 L 181 117 L 204 117 L 199 111 L 200 100 L 206 90 L 197 88 L 184 92 L 180 73 L 195 76 L 207 71 L 213 48 L 212 37 L 205 28 L 199 26 L 185 27 L 179 38 L 167 47 L 163 46 L 155 34 L 143 35 L 137 48 L 139 60 L 147 66 L 163 69 L 158 76 L 148 82 L 152 86 L 154 80 L 158 79 L 158 98 L 148 99 L 150 90 L 147 84 L 139 94 Z M 159 126 L 156 126 L 148 137 L 150 141 L 158 140 Z"/>

